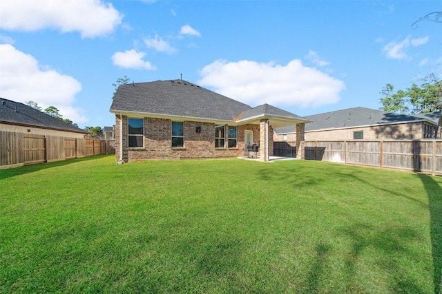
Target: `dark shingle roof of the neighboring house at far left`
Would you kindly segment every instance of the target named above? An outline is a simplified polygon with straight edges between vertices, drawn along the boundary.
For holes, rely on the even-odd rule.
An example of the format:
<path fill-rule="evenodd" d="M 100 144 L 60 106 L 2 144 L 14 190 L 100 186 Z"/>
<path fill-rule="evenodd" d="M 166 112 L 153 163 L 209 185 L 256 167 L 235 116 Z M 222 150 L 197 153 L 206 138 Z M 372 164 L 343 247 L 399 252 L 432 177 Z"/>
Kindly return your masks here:
<path fill-rule="evenodd" d="M 87 134 L 86 131 L 65 123 L 63 120 L 40 112 L 23 103 L 0 98 L 0 123 L 9 125 L 23 125 L 29 127 L 41 127 L 45 129 L 58 129 L 61 131 Z"/>

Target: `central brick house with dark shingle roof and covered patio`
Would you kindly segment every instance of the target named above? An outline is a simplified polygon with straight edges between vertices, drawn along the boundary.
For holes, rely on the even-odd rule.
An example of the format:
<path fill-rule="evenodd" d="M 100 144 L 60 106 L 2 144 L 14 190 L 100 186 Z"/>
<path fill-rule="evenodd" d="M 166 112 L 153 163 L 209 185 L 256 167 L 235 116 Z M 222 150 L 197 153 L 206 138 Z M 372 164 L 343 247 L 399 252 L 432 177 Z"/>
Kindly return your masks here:
<path fill-rule="evenodd" d="M 273 128 L 302 130 L 309 123 L 277 107 L 250 107 L 182 80 L 119 85 L 110 112 L 117 162 L 240 157 L 253 143 L 260 160 L 267 161 Z"/>

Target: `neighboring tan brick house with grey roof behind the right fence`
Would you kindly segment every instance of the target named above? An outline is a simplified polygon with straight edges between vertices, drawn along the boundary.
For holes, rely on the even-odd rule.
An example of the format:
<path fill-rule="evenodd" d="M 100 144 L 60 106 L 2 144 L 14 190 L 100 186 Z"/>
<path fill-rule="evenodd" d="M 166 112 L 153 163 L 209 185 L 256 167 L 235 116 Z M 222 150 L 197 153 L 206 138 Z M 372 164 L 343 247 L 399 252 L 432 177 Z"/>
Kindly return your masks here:
<path fill-rule="evenodd" d="M 305 116 L 305 140 L 441 138 L 441 112 L 404 115 L 365 107 Z M 296 126 L 273 129 L 275 142 L 296 142 Z"/>

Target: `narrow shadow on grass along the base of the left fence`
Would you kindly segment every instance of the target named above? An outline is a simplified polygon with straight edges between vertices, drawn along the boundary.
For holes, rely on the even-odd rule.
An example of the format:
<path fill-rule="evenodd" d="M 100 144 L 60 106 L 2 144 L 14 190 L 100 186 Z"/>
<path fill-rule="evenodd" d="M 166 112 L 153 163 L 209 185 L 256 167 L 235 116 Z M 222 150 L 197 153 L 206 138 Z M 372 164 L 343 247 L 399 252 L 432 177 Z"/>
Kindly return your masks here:
<path fill-rule="evenodd" d="M 99 158 L 103 158 L 109 155 L 97 155 L 97 156 L 88 156 L 83 158 L 73 158 L 66 159 L 54 162 L 43 162 L 37 163 L 35 165 L 23 165 L 21 167 L 10 167 L 8 169 L 0 169 L 0 180 L 3 178 L 12 178 L 14 176 L 20 176 L 23 174 L 30 174 L 36 171 L 41 171 L 43 169 L 49 169 L 51 167 L 63 167 L 64 165 L 71 165 L 73 163 L 82 162 L 82 161 L 90 161 L 97 160 Z"/>

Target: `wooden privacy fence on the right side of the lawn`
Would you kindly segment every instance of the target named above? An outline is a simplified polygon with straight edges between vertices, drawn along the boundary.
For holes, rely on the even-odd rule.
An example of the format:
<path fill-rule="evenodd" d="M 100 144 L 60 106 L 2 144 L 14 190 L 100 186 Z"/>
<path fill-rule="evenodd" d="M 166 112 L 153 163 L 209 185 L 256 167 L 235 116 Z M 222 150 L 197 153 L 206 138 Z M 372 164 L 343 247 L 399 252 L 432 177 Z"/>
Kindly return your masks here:
<path fill-rule="evenodd" d="M 442 176 L 442 140 L 305 141 L 305 159 Z"/>

